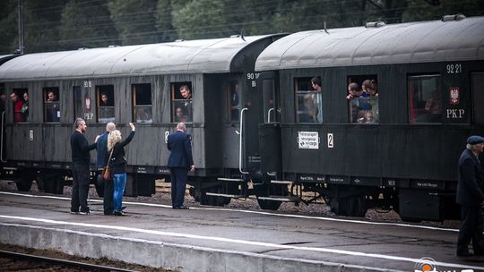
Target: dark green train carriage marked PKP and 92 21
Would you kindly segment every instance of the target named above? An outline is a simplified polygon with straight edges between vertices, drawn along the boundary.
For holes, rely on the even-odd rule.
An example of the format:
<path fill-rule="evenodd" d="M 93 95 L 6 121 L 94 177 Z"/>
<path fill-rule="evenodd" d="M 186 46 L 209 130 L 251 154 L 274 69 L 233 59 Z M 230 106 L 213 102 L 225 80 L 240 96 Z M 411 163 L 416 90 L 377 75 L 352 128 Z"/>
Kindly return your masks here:
<path fill-rule="evenodd" d="M 322 197 L 340 215 L 458 216 L 458 158 L 484 133 L 483 17 L 298 32 L 264 49 L 255 70 L 260 99 L 276 101 L 276 116 L 260 117 L 265 183 L 292 184 L 298 201 L 314 191 L 307 202 Z M 347 98 L 365 80 L 377 95 Z"/>

